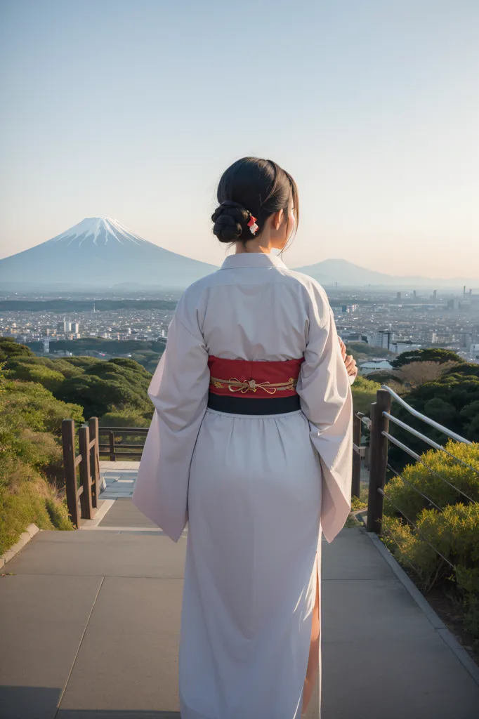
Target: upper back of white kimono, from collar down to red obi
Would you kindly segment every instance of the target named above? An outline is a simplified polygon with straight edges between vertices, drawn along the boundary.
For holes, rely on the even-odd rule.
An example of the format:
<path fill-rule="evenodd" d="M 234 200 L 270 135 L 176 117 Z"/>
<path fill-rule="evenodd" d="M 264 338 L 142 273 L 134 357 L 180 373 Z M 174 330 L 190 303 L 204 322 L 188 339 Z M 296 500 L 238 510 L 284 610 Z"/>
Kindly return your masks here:
<path fill-rule="evenodd" d="M 301 357 L 311 323 L 329 319 L 324 290 L 275 255 L 229 255 L 220 270 L 186 290 L 177 316 L 201 331 L 208 354 L 225 359 Z"/>

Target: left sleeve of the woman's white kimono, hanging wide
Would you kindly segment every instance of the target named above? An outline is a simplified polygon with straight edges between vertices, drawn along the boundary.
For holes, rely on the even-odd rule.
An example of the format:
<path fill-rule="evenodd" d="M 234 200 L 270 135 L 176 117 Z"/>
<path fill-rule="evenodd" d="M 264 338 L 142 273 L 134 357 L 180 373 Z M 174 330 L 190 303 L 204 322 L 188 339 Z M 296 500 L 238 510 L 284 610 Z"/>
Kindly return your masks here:
<path fill-rule="evenodd" d="M 178 309 L 177 309 L 178 311 Z M 188 521 L 191 458 L 208 401 L 208 353 L 198 327 L 173 317 L 148 396 L 155 413 L 132 497 L 163 531 L 178 541 Z"/>

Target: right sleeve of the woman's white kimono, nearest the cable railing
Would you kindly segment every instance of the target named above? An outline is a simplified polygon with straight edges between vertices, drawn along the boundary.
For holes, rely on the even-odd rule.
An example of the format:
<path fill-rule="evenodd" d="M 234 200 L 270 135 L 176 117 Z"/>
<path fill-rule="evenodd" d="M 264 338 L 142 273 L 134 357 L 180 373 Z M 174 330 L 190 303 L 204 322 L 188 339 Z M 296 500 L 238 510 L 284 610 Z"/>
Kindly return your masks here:
<path fill-rule="evenodd" d="M 325 321 L 320 308 L 311 312 L 297 390 L 321 462 L 321 527 L 330 542 L 351 506 L 352 394 L 332 310 L 327 299 L 323 303 Z"/>

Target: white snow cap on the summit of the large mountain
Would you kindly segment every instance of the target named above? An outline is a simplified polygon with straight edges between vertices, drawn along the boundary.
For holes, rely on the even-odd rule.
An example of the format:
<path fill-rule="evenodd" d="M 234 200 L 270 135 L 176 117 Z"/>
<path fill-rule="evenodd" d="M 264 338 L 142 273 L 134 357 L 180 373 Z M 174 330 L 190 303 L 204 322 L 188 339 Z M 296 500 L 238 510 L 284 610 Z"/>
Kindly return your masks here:
<path fill-rule="evenodd" d="M 66 232 L 50 239 L 52 243 L 75 244 L 77 247 L 86 244 L 104 245 L 108 242 L 119 244 L 144 244 L 147 240 L 142 239 L 117 219 L 112 217 L 86 217 L 78 224 L 73 225 Z"/>

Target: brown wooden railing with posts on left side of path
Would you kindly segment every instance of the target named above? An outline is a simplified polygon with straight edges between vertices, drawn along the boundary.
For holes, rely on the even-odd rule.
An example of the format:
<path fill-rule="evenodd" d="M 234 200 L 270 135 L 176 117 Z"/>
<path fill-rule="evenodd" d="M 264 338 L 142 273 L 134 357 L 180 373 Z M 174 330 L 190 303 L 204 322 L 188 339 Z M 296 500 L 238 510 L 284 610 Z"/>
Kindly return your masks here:
<path fill-rule="evenodd" d="M 140 459 L 144 444 L 115 444 L 115 435 L 145 435 L 145 427 L 99 427 L 98 419 L 92 417 L 78 429 L 78 452 L 73 419 L 62 422 L 63 468 L 68 513 L 76 528 L 86 519 L 93 519 L 99 506 L 100 454 L 109 455 L 111 462 L 119 457 Z M 107 435 L 108 444 L 100 443 L 100 436 Z M 123 450 L 127 451 L 124 452 Z M 129 450 L 136 449 L 136 452 Z"/>

